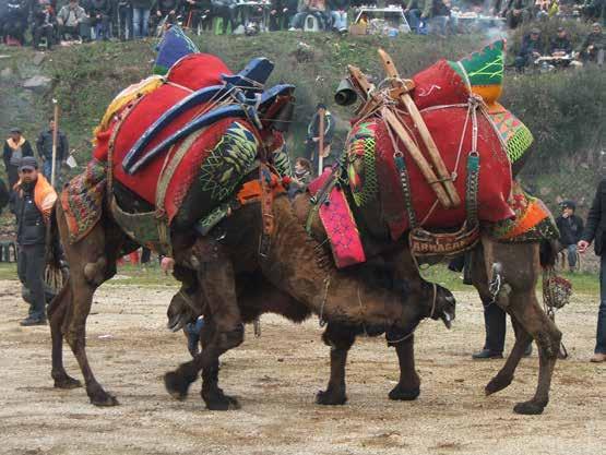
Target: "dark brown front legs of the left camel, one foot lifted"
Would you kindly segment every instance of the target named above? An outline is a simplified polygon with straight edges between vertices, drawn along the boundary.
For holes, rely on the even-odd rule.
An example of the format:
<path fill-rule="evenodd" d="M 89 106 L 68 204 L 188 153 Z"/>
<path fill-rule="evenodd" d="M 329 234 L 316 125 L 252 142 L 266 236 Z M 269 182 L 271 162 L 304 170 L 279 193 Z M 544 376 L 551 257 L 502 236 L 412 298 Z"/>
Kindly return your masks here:
<path fill-rule="evenodd" d="M 236 295 L 234 268 L 222 247 L 212 240 L 199 239 L 187 258 L 198 270 L 198 280 L 207 302 L 206 314 L 212 314 L 213 332 L 207 335 L 207 345 L 192 361 L 182 363 L 164 376 L 166 390 L 178 399 L 185 399 L 189 386 L 202 374 L 202 399 L 211 410 L 239 408 L 235 397 L 225 395 L 218 387 L 218 358 L 243 340 L 243 324 Z M 183 255 L 180 255 L 183 259 Z"/>

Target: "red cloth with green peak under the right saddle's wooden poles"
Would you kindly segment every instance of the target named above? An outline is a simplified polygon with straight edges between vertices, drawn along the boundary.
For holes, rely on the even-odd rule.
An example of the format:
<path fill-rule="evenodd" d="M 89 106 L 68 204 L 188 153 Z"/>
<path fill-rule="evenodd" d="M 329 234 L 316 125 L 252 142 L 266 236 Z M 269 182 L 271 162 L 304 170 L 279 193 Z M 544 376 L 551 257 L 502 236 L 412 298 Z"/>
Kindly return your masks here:
<path fill-rule="evenodd" d="M 406 200 L 394 154 L 405 159 L 412 208 L 416 219 L 427 228 L 456 228 L 466 219 L 465 196 L 467 157 L 479 156 L 477 215 L 480 221 L 497 223 L 513 218 L 511 163 L 519 159 L 532 143 L 527 128 L 497 103 L 503 76 L 503 41 L 497 41 L 458 61 L 441 60 L 417 73 L 412 97 L 450 172 L 463 203 L 453 209 L 435 207 L 436 196 L 420 169 L 394 136 L 382 118 L 363 119 L 354 124 L 346 143 L 346 168 L 354 200 L 364 206 L 380 201 L 392 238 L 409 228 Z M 473 97 L 484 104 L 476 109 L 477 145 L 474 148 Z M 401 120 L 419 145 L 428 152 L 418 130 L 407 115 Z M 429 160 L 429 159 L 428 159 Z"/>

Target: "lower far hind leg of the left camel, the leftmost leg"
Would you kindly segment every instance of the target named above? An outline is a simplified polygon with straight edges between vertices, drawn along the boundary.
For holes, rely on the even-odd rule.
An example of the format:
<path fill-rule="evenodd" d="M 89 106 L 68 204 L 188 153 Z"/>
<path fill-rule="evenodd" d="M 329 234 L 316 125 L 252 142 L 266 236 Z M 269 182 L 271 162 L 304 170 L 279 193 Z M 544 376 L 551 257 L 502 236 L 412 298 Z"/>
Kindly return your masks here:
<path fill-rule="evenodd" d="M 61 326 L 68 308 L 71 306 L 71 288 L 66 284 L 48 307 L 50 337 L 52 339 L 52 371 L 50 375 L 57 388 L 82 386 L 81 382 L 71 378 L 63 367 L 63 334 L 61 333 Z"/>

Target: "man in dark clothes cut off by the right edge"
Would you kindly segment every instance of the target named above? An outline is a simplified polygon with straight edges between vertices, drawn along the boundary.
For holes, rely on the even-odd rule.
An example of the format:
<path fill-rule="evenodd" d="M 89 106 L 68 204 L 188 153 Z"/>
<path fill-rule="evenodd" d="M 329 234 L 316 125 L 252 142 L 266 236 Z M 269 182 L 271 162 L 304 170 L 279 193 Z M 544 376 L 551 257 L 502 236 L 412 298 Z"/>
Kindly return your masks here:
<path fill-rule="evenodd" d="M 597 185 L 585 229 L 578 243 L 579 252 L 584 253 L 595 240 L 595 254 L 599 256 L 599 310 L 597 312 L 597 331 L 595 335 L 592 362 L 606 361 L 606 178 Z"/>

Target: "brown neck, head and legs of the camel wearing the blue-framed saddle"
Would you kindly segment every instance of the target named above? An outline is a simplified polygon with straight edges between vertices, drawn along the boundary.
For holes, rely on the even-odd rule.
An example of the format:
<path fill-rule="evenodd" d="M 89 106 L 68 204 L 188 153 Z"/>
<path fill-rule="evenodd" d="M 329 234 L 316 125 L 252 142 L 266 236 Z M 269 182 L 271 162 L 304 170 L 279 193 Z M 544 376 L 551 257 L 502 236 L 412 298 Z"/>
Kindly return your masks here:
<path fill-rule="evenodd" d="M 261 272 L 266 282 L 296 299 L 326 321 L 394 327 L 409 331 L 420 319 L 452 314 L 450 292 L 423 282 L 415 292 L 380 287 L 367 282 L 361 270 L 336 271 L 319 244 L 309 238 L 286 196 L 273 203 L 275 229 L 268 255 L 259 255 L 261 211 L 258 203 L 245 205 L 222 221 L 212 236 L 197 238 L 191 231 L 173 232 L 175 260 L 180 267 L 194 271 L 200 289 L 213 318 L 213 332 L 205 349 L 192 361 L 167 373 L 165 384 L 177 397 L 185 397 L 200 370 L 202 398 L 209 409 L 238 407 L 238 402 L 218 387 L 216 366 L 222 354 L 243 339 L 242 315 L 237 304 L 236 278 Z M 116 273 L 116 260 L 134 248 L 108 213 L 81 241 L 70 244 L 66 215 L 58 204 L 56 227 L 63 240 L 70 277 L 49 307 L 52 336 L 52 378 L 55 385 L 71 388 L 80 385 L 62 364 L 64 337 L 78 359 L 91 402 L 99 406 L 116 405 L 95 379 L 85 351 L 85 323 L 93 294 Z M 249 285 L 253 285 L 249 282 Z M 235 310 L 234 310 L 235 309 Z"/>

